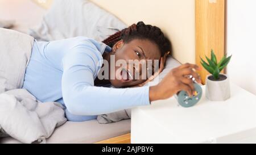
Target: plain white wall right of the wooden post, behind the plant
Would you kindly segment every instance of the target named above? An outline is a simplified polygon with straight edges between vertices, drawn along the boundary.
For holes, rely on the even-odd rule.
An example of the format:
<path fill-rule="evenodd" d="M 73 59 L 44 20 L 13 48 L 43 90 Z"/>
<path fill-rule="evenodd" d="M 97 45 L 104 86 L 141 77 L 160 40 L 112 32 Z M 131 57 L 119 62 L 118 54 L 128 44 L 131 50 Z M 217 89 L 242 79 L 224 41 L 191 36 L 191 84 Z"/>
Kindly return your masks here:
<path fill-rule="evenodd" d="M 228 0 L 226 49 L 230 80 L 256 95 L 256 1 Z"/>

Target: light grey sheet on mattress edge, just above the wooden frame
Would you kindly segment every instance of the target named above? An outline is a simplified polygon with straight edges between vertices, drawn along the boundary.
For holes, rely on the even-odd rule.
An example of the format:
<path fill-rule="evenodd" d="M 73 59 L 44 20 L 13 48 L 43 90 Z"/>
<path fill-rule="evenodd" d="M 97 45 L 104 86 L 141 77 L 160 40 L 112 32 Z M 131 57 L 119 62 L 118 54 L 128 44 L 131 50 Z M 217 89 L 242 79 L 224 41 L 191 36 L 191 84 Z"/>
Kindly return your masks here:
<path fill-rule="evenodd" d="M 131 120 L 100 124 L 96 119 L 86 122 L 66 122 L 57 127 L 44 143 L 97 143 L 98 141 L 130 133 Z M 0 144 L 20 143 L 11 137 L 0 139 Z"/>

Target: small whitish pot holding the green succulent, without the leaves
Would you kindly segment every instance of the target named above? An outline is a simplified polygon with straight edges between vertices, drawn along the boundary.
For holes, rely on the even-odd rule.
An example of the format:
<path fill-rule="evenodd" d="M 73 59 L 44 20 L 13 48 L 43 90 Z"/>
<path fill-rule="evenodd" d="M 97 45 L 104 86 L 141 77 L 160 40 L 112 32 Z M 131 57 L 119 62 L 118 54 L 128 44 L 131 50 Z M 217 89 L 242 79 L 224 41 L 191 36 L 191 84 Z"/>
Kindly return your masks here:
<path fill-rule="evenodd" d="M 213 81 L 212 75 L 206 78 L 205 95 L 212 101 L 225 101 L 230 98 L 229 77 L 226 74 L 220 74 L 219 81 Z"/>

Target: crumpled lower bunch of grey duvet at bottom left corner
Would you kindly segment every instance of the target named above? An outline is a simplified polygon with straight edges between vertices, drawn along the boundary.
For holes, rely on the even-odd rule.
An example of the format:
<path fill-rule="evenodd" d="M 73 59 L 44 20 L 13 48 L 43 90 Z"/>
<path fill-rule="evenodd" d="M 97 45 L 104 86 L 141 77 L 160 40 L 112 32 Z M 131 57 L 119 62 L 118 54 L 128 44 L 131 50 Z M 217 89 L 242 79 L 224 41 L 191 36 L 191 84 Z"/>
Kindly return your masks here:
<path fill-rule="evenodd" d="M 60 103 L 40 103 L 26 89 L 0 94 L 0 128 L 3 137 L 10 135 L 22 143 L 34 143 L 50 137 L 55 127 L 66 120 Z"/>

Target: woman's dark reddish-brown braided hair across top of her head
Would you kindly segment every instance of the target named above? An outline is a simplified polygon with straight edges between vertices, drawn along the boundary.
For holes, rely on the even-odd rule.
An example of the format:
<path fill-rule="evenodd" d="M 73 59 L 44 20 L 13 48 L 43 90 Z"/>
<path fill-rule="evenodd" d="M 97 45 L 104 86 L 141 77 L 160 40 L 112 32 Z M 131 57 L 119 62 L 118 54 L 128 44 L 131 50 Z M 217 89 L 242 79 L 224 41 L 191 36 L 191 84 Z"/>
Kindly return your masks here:
<path fill-rule="evenodd" d="M 146 25 L 143 22 L 138 22 L 137 24 L 133 24 L 128 28 L 118 31 L 102 42 L 109 45 L 109 47 L 113 47 L 119 40 L 123 40 L 124 43 L 129 43 L 133 39 L 148 39 L 154 42 L 158 45 L 161 56 L 171 51 L 171 42 L 164 36 L 160 28 Z"/>

